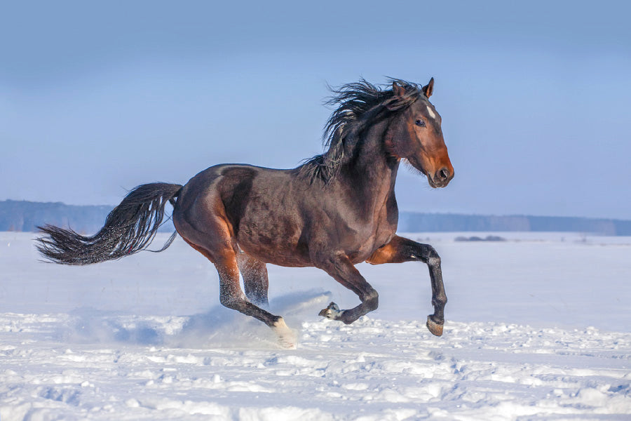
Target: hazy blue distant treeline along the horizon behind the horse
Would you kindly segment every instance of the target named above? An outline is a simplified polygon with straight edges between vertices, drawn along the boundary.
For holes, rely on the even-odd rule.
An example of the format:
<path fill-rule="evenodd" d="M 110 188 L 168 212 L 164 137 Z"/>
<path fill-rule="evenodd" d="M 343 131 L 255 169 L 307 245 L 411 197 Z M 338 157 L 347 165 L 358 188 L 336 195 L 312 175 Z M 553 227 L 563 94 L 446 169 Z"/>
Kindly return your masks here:
<path fill-rule="evenodd" d="M 74 206 L 64 203 L 0 201 L 0 231 L 36 231 L 38 225 L 71 227 L 94 234 L 114 206 Z M 172 231 L 166 222 L 161 231 Z M 558 231 L 631 235 L 631 221 L 559 216 L 489 216 L 401 212 L 400 232 Z"/>

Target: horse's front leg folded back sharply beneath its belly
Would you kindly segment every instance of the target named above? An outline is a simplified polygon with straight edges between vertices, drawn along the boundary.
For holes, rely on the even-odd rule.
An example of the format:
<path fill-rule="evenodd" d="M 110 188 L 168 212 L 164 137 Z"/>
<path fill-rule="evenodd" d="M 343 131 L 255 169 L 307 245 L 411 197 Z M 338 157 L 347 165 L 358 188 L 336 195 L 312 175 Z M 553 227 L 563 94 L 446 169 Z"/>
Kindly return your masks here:
<path fill-rule="evenodd" d="M 312 259 L 316 267 L 325 270 L 325 272 L 333 276 L 336 281 L 357 294 L 362 301 L 357 307 L 348 310 L 340 310 L 339 307 L 332 302 L 329 307 L 320 312 L 320 316 L 351 324 L 353 321 L 368 312 L 372 312 L 379 306 L 379 294 L 359 273 L 346 254 L 322 254 L 314 257 L 315 258 Z"/>

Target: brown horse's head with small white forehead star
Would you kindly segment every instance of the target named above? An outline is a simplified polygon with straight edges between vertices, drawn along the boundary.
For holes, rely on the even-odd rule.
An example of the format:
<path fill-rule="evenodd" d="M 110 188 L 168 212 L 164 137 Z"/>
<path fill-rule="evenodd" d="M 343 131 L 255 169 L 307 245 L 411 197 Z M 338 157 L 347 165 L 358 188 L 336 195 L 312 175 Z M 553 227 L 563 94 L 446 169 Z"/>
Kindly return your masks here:
<path fill-rule="evenodd" d="M 421 93 L 406 93 L 396 81 L 392 84 L 393 100 L 388 108 L 397 109 L 406 95 L 418 95 L 412 105 L 398 112 L 388 132 L 388 149 L 398 158 L 407 159 L 421 173 L 427 175 L 431 187 L 445 187 L 454 178 L 454 167 L 449 161 L 445 139 L 440 128 L 441 118 L 429 102 L 434 78 L 421 88 Z"/>

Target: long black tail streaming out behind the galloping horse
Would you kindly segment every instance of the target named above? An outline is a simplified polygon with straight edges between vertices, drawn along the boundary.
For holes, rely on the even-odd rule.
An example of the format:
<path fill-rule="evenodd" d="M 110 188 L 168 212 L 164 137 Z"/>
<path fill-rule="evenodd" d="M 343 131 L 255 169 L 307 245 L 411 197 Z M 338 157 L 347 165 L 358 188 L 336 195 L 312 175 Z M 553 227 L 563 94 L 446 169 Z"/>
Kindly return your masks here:
<path fill-rule="evenodd" d="M 46 234 L 36 241 L 48 260 L 65 265 L 89 265 L 138 253 L 149 246 L 164 217 L 164 207 L 182 189 L 181 185 L 155 182 L 133 189 L 105 220 L 93 236 L 82 236 L 72 229 L 46 225 L 38 227 Z M 165 250 L 175 239 L 175 232 L 165 243 Z"/>

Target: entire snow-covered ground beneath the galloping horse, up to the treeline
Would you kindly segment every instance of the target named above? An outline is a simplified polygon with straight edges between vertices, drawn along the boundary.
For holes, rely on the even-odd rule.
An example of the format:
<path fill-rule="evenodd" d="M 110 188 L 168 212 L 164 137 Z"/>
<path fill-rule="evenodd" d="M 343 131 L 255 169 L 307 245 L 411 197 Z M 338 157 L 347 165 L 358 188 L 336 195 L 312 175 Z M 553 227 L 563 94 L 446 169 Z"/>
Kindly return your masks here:
<path fill-rule="evenodd" d="M 64 267 L 1 232 L 0 420 L 629 420 L 631 238 L 454 241 L 487 234 L 409 234 L 442 257 L 441 338 L 425 265 L 358 265 L 380 307 L 350 326 L 317 314 L 353 293 L 270 266 L 287 350 L 181 240 Z"/>

